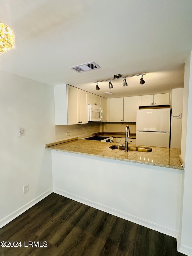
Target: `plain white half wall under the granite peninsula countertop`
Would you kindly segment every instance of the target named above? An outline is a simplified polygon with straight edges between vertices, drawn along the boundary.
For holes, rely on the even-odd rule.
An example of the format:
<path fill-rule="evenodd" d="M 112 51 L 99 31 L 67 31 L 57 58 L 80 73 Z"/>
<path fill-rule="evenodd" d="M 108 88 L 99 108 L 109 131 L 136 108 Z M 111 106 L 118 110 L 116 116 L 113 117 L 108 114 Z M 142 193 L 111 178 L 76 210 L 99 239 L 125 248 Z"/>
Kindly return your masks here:
<path fill-rule="evenodd" d="M 52 152 L 53 191 L 177 236 L 182 170 Z"/>

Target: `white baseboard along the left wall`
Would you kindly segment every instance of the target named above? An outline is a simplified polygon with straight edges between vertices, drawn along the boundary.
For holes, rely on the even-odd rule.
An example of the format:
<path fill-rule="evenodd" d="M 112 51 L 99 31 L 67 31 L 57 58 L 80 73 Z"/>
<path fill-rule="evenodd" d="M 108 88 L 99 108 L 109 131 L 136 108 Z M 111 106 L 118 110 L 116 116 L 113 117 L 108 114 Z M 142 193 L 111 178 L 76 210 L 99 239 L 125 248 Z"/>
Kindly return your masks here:
<path fill-rule="evenodd" d="M 15 212 L 11 213 L 10 215 L 8 215 L 7 217 L 3 218 L 2 220 L 0 220 L 0 228 L 5 226 L 7 223 L 9 223 L 10 221 L 12 221 L 13 219 L 15 219 L 16 217 L 18 217 L 19 215 L 21 215 L 23 212 L 25 212 L 26 210 L 28 210 L 29 208 L 31 208 L 32 206 L 34 206 L 36 203 L 38 203 L 39 201 L 41 201 L 42 199 L 44 199 L 45 197 L 47 197 L 49 194 L 51 194 L 53 192 L 52 188 L 50 188 L 49 190 L 47 190 L 46 192 L 44 192 L 43 194 L 41 194 L 40 196 L 36 197 L 35 199 L 33 199 L 32 201 L 30 201 L 29 203 L 27 203 L 26 205 L 22 206 L 21 208 L 19 208 L 18 210 L 16 210 Z"/>

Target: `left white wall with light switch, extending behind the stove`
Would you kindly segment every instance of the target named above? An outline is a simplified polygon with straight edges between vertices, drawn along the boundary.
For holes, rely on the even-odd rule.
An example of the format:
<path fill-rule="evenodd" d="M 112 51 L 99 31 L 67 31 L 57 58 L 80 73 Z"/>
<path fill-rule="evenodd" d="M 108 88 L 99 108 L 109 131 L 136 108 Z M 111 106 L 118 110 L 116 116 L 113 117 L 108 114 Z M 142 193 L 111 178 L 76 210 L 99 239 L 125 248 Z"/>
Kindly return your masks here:
<path fill-rule="evenodd" d="M 55 126 L 53 86 L 3 71 L 0 77 L 1 227 L 52 192 L 51 154 L 44 144 L 92 135 L 100 124 Z M 25 136 L 18 136 L 19 127 Z"/>

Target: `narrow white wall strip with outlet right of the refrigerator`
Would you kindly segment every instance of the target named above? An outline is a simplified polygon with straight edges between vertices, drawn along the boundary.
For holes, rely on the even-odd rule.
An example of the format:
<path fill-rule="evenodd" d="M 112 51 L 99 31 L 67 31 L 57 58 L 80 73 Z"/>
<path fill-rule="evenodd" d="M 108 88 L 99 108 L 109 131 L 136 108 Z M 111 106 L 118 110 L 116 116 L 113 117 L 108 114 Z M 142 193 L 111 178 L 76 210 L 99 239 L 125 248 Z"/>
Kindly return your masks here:
<path fill-rule="evenodd" d="M 177 118 L 178 113 L 183 114 L 183 88 L 172 90 L 172 117 L 171 117 L 171 148 L 181 148 L 182 118 Z"/>

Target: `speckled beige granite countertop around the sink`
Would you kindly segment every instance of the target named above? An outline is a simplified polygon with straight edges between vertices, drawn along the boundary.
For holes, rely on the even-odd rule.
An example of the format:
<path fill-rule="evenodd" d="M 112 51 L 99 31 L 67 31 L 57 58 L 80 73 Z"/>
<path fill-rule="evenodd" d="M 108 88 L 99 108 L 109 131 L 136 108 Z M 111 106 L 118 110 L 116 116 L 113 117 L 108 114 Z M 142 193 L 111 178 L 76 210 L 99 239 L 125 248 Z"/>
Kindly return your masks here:
<path fill-rule="evenodd" d="M 147 153 L 125 152 L 124 150 L 110 149 L 109 147 L 114 144 L 116 143 L 76 139 L 48 146 L 46 149 L 183 170 L 182 164 L 179 161 L 180 149 L 152 147 L 152 152 Z M 129 144 L 129 146 L 135 145 Z"/>

